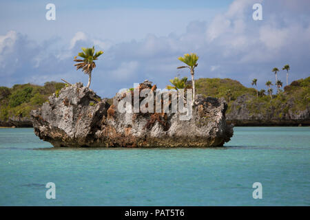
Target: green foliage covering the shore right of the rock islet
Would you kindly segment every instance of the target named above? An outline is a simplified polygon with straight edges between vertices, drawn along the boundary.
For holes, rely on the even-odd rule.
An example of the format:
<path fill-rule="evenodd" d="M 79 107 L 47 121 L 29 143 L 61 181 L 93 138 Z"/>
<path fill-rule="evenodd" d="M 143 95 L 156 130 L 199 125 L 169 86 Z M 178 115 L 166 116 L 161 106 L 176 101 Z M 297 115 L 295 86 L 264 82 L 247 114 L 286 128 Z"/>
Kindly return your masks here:
<path fill-rule="evenodd" d="M 288 113 L 289 109 L 296 113 L 309 107 L 310 77 L 293 81 L 291 85 L 284 87 L 284 91 L 279 89 L 278 94 L 272 96 L 272 100 L 269 95 L 267 96 L 266 91 L 265 94 L 258 92 L 257 97 L 254 88 L 245 87 L 238 81 L 229 78 L 200 78 L 196 80 L 196 92 L 205 97 L 224 97 L 228 104 L 227 113 L 231 111 L 231 104 L 236 98 L 246 95 L 246 106 L 240 106 L 240 108 L 246 107 L 251 115 L 271 114 L 280 119 L 285 116 L 285 113 Z M 231 97 L 230 102 L 228 95 Z"/>

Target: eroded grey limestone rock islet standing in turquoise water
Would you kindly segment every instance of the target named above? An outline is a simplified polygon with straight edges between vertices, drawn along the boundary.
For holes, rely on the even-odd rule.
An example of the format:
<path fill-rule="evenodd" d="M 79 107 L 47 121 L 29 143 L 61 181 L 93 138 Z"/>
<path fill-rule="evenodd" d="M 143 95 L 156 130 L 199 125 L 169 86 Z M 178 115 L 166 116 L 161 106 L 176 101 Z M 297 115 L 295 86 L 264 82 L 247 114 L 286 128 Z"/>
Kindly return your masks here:
<path fill-rule="evenodd" d="M 156 85 L 147 80 L 139 85 L 141 89 L 156 94 Z M 223 146 L 233 135 L 233 126 L 226 124 L 223 98 L 196 95 L 192 117 L 180 120 L 184 113 L 118 111 L 119 102 L 133 94 L 130 90 L 116 94 L 110 105 L 81 83 L 65 87 L 58 97 L 53 94 L 41 109 L 31 112 L 34 133 L 53 146 L 68 147 Z"/>

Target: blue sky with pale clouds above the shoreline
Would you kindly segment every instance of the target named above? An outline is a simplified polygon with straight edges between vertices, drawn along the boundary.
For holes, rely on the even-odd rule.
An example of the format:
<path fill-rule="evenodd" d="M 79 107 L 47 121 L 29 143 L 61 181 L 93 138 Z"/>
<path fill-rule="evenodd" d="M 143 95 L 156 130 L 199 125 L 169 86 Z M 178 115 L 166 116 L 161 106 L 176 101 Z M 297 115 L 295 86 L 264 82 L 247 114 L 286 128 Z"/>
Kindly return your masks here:
<path fill-rule="evenodd" d="M 45 5 L 54 3 L 56 20 Z M 254 21 L 254 3 L 262 21 Z M 199 56 L 196 78 L 232 78 L 258 87 L 275 76 L 286 84 L 310 76 L 310 1 L 1 1 L 0 86 L 61 81 L 87 84 L 73 57 L 81 47 L 104 54 L 96 61 L 92 89 L 112 97 L 148 79 L 158 88 L 189 76 L 178 56 Z M 274 89 L 275 90 L 275 89 Z"/>

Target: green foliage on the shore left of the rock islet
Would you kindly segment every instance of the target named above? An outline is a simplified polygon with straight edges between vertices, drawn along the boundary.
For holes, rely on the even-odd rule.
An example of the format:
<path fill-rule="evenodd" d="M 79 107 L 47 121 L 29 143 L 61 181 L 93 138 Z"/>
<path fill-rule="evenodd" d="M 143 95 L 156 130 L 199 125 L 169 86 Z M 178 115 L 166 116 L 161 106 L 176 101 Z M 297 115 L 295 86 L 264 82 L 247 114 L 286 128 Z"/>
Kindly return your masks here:
<path fill-rule="evenodd" d="M 32 109 L 39 108 L 56 91 L 65 87 L 64 83 L 47 82 L 44 86 L 14 85 L 12 88 L 0 87 L 0 120 L 30 117 Z"/>

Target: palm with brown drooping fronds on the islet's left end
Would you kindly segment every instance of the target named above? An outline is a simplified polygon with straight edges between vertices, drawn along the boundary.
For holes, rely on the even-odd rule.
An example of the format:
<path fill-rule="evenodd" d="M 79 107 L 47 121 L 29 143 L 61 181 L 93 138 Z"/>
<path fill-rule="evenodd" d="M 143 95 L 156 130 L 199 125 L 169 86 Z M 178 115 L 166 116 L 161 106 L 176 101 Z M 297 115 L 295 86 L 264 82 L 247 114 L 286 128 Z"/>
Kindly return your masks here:
<path fill-rule="evenodd" d="M 103 51 L 99 51 L 94 54 L 94 47 L 82 47 L 82 50 L 83 52 L 80 52 L 78 56 L 81 56 L 83 59 L 76 59 L 77 56 L 74 56 L 74 61 L 78 62 L 74 66 L 76 66 L 76 70 L 82 69 L 85 74 L 88 74 L 89 78 L 87 88 L 89 88 L 92 80 L 92 69 L 96 67 L 96 63 L 94 63 L 94 61 L 98 60 L 98 57 L 103 54 Z"/>

